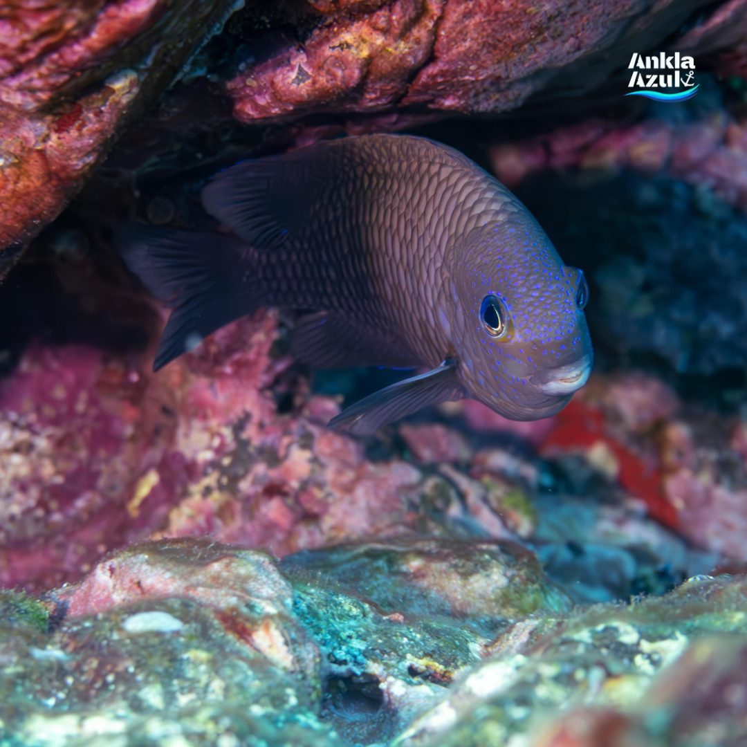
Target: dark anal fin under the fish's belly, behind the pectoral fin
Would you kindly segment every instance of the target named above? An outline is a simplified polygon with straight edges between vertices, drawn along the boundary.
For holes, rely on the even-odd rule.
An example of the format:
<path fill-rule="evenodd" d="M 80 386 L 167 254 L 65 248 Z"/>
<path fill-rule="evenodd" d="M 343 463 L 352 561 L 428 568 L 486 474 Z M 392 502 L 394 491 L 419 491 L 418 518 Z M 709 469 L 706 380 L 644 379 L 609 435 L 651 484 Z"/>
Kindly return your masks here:
<path fill-rule="evenodd" d="M 397 341 L 363 335 L 350 320 L 331 311 L 301 317 L 294 327 L 291 350 L 297 359 L 312 368 L 418 365 Z"/>

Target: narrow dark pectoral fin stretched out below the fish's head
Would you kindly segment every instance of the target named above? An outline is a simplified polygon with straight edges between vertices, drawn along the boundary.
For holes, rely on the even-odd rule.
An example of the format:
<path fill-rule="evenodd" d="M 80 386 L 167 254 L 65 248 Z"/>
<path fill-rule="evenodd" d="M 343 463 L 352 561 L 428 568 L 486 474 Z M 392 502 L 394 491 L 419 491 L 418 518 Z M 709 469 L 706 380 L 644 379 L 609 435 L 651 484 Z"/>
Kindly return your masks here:
<path fill-rule="evenodd" d="M 444 361 L 432 371 L 392 384 L 356 402 L 329 421 L 329 427 L 359 436 L 371 436 L 391 421 L 428 405 L 464 396 L 456 379 L 456 362 Z"/>

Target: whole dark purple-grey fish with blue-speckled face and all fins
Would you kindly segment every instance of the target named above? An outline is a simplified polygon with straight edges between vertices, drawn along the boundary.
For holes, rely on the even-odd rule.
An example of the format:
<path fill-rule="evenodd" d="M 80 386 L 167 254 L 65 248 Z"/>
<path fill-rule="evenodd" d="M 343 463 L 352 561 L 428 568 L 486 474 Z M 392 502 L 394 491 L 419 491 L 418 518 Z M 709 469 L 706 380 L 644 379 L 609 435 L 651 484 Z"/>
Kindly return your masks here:
<path fill-rule="evenodd" d="M 303 313 L 294 347 L 311 365 L 429 369 L 335 418 L 357 433 L 459 397 L 547 417 L 589 376 L 583 273 L 453 149 L 400 135 L 317 143 L 236 164 L 202 203 L 232 235 L 129 226 L 118 238 L 131 270 L 173 306 L 156 368 L 279 306 Z"/>

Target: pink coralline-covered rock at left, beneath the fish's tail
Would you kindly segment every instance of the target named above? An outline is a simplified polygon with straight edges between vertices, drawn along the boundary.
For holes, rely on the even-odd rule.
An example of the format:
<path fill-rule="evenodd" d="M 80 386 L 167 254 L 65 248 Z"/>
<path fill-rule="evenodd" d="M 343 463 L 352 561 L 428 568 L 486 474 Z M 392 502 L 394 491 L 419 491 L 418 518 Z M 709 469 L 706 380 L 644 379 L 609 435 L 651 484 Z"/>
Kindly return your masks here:
<path fill-rule="evenodd" d="M 286 554 L 414 528 L 415 465 L 326 430 L 329 398 L 276 412 L 266 388 L 289 361 L 270 358 L 275 339 L 276 316 L 258 314 L 158 374 L 139 356 L 29 349 L 0 382 L 2 586 L 75 579 L 154 533 Z"/>

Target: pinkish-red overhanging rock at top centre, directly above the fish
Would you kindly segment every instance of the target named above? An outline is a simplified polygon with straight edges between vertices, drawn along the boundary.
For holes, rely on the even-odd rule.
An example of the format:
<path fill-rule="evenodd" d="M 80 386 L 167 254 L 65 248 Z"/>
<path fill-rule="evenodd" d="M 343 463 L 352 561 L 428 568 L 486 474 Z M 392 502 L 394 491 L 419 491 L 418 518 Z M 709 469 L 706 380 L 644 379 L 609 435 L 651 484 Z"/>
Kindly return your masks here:
<path fill-rule="evenodd" d="M 332 4 L 315 4 L 329 15 L 303 44 L 242 69 L 227 90 L 244 122 L 325 109 L 507 111 L 563 71 L 565 86 L 598 84 L 628 49 L 663 39 L 664 28 L 677 28 L 698 5 L 395 0 L 332 13 Z"/>

